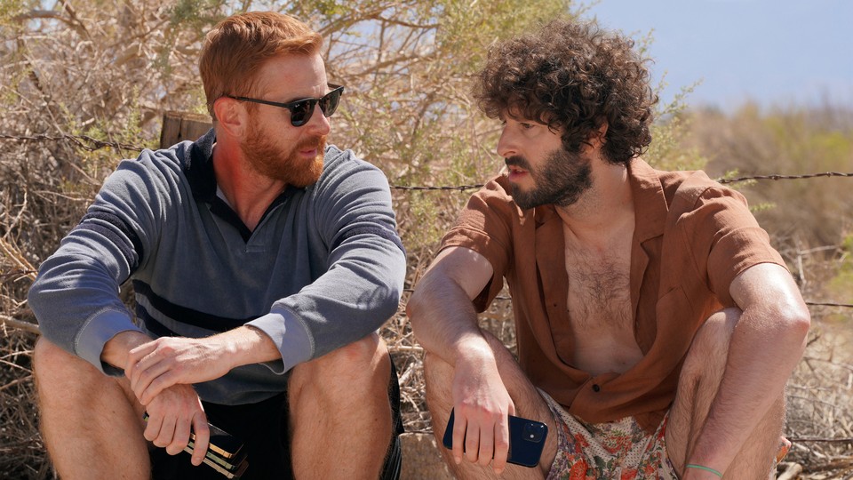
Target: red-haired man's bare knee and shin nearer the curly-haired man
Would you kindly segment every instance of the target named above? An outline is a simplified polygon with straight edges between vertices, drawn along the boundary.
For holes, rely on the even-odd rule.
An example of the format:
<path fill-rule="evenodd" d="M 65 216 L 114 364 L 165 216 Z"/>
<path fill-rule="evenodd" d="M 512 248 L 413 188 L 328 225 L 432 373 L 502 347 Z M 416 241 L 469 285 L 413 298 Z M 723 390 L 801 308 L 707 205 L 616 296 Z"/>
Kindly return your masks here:
<path fill-rule="evenodd" d="M 379 477 L 391 443 L 387 346 L 373 333 L 296 366 L 288 386 L 297 478 Z"/>

